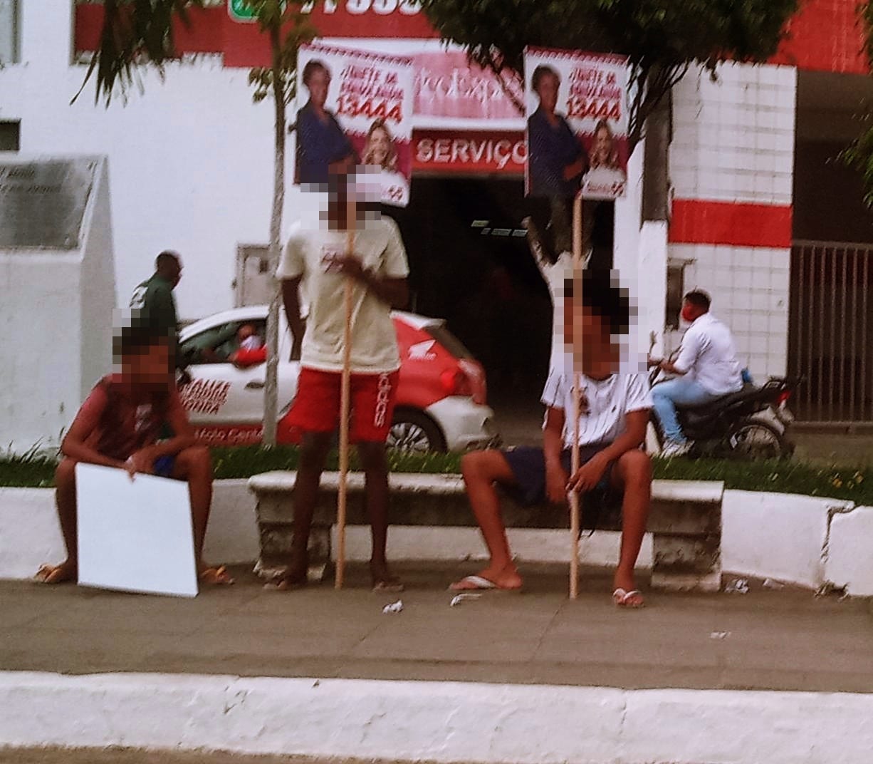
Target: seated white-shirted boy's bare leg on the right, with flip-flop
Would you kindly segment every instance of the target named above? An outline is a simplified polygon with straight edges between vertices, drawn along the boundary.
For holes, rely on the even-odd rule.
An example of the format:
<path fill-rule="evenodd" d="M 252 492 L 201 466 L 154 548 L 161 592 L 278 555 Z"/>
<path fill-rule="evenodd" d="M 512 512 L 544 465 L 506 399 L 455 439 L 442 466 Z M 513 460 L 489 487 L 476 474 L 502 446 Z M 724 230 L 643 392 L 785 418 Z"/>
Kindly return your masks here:
<path fill-rule="evenodd" d="M 652 465 L 651 460 L 643 451 L 628 451 L 619 457 L 613 469 L 613 482 L 624 491 L 622 500 L 622 551 L 615 569 L 616 589 L 626 592 L 636 589 L 634 584 L 634 566 L 643 545 L 643 535 L 646 532 L 646 521 L 649 518 L 651 503 Z M 643 603 L 642 596 L 638 601 L 630 601 L 629 605 Z"/>

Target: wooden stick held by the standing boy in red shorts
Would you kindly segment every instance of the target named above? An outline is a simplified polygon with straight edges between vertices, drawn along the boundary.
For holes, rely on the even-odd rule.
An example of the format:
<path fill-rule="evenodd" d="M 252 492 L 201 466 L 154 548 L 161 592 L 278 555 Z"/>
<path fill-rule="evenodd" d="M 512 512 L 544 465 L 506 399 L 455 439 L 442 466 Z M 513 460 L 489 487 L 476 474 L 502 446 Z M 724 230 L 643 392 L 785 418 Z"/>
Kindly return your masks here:
<path fill-rule="evenodd" d="M 354 201 L 346 212 L 346 254 L 354 254 Z M 340 378 L 340 485 L 336 495 L 336 577 L 333 587 L 342 588 L 346 574 L 346 502 L 348 497 L 348 414 L 352 391 L 352 279 L 346 276 L 343 293 L 346 323 L 342 334 L 342 377 Z"/>

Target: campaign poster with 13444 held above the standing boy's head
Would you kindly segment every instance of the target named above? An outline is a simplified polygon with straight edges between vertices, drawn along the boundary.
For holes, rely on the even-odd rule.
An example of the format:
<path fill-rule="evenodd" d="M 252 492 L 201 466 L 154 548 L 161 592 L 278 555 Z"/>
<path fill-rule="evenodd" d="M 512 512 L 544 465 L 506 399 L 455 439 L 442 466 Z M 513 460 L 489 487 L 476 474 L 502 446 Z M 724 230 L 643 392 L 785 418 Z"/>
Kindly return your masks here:
<path fill-rule="evenodd" d="M 413 60 L 328 45 L 300 48 L 295 182 L 327 189 L 332 172 L 372 173 L 384 204 L 409 204 Z"/>

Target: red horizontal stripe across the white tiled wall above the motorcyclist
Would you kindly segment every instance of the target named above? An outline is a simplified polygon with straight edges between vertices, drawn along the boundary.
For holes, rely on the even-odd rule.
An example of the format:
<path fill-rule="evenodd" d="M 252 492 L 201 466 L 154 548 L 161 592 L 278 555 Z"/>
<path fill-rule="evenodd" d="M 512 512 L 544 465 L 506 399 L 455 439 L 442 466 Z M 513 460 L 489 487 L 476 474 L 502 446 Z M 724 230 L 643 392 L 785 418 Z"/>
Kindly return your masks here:
<path fill-rule="evenodd" d="M 792 208 L 676 199 L 670 221 L 673 244 L 791 247 Z"/>

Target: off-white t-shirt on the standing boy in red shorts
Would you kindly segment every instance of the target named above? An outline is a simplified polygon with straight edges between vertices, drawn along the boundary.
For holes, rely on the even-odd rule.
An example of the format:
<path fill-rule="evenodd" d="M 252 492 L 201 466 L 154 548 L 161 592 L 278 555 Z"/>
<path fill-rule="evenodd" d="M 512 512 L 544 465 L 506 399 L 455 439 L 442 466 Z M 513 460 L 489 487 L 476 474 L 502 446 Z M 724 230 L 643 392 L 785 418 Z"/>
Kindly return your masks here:
<path fill-rule="evenodd" d="M 340 372 L 346 277 L 332 268 L 332 258 L 345 254 L 347 233 L 329 230 L 324 227 L 325 222 L 321 222 L 321 226 L 310 229 L 298 223 L 292 228 L 276 278 L 303 276 L 309 317 L 301 365 L 324 372 Z M 392 219 L 368 219 L 354 234 L 354 253 L 361 258 L 365 270 L 383 278 L 404 279 L 409 275 L 400 231 Z M 391 309 L 360 281 L 352 283 L 352 371 L 395 372 L 400 368 L 400 353 Z"/>

